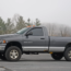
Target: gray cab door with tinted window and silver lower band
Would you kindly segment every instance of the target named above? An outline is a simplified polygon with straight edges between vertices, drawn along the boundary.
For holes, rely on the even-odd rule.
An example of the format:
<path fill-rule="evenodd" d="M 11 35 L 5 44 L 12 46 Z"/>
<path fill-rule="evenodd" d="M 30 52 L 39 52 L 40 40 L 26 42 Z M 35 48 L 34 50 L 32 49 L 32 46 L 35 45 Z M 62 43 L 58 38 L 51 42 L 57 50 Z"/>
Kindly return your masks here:
<path fill-rule="evenodd" d="M 47 49 L 43 27 L 33 27 L 23 39 L 23 50 L 25 51 L 44 51 Z"/>

